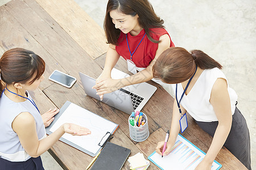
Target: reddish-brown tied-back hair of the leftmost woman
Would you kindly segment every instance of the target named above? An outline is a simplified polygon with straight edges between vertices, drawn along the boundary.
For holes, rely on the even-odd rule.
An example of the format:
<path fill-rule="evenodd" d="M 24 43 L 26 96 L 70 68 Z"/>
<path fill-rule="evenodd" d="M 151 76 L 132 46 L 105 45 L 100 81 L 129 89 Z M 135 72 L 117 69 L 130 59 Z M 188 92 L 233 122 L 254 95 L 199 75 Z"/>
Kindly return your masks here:
<path fill-rule="evenodd" d="M 7 50 L 0 58 L 0 94 L 2 94 L 5 84 L 32 84 L 42 76 L 45 66 L 44 60 L 30 50 L 23 48 Z M 33 76 L 35 78 L 31 80 Z M 28 82 L 29 80 L 30 82 Z"/>

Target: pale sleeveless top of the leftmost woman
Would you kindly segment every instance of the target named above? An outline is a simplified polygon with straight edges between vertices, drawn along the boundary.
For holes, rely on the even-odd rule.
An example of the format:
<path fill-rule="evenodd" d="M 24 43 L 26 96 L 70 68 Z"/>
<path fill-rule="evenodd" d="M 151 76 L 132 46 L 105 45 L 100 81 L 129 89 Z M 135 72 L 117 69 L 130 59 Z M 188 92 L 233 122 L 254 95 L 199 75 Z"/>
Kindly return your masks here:
<path fill-rule="evenodd" d="M 28 99 L 32 101 L 30 94 L 28 94 Z M 29 100 L 16 103 L 3 93 L 0 98 L 0 157 L 11 162 L 23 162 L 31 158 L 11 127 L 14 118 L 22 112 L 29 112 L 35 118 L 38 139 L 46 137 L 42 117 L 34 105 Z"/>

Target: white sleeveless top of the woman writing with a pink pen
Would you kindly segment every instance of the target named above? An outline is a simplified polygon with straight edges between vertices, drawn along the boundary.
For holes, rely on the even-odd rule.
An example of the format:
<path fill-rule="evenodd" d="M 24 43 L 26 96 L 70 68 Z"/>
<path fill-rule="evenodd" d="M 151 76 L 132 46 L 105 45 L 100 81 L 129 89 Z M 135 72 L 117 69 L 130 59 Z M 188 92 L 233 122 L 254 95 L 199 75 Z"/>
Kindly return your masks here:
<path fill-rule="evenodd" d="M 210 104 L 210 94 L 212 92 L 213 84 L 217 78 L 223 78 L 228 83 L 226 76 L 217 67 L 214 69 L 204 70 L 196 83 L 189 91 L 188 95 L 183 96 L 180 101 L 180 97 L 183 94 L 183 87 L 181 83 L 177 84 L 177 100 L 180 101 L 182 107 L 196 120 L 202 122 L 218 121 L 216 114 L 214 113 L 213 106 Z M 174 94 L 176 94 L 176 84 L 172 84 Z M 229 87 L 228 92 L 230 97 L 232 115 L 236 109 L 237 94 Z"/>

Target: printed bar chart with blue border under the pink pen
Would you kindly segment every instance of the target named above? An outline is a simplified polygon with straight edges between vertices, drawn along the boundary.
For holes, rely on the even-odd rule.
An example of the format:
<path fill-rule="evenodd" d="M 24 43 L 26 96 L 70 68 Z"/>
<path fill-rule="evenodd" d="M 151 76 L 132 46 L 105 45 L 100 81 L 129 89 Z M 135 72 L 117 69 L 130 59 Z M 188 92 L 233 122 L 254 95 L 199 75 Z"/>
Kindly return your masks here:
<path fill-rule="evenodd" d="M 164 156 L 153 152 L 148 159 L 158 165 L 160 169 L 195 169 L 196 166 L 203 160 L 205 153 L 182 137 L 177 136 L 174 148 L 169 155 Z M 220 169 L 222 165 L 214 160 L 211 169 Z"/>

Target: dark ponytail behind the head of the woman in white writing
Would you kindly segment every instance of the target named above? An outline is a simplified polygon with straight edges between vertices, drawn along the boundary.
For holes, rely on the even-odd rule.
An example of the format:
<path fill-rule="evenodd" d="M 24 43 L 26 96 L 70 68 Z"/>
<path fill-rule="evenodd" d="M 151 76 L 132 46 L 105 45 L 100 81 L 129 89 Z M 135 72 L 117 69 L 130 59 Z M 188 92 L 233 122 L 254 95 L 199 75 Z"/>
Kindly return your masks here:
<path fill-rule="evenodd" d="M 213 58 L 202 52 L 201 50 L 192 50 L 191 55 L 195 60 L 197 66 L 201 69 L 213 69 L 217 67 L 218 69 L 222 69 L 220 63 L 215 61 Z"/>

